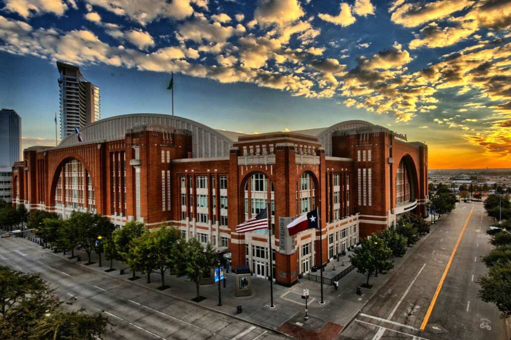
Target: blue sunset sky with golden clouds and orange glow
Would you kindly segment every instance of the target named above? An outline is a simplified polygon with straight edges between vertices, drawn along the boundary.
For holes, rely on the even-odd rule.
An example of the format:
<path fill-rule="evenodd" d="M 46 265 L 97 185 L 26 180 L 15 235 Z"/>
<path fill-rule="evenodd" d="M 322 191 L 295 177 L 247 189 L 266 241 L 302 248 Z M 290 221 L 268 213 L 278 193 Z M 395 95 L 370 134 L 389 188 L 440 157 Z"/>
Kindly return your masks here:
<path fill-rule="evenodd" d="M 3 0 L 0 106 L 55 143 L 55 61 L 102 117 L 170 112 L 245 133 L 364 119 L 430 168 L 511 167 L 509 0 Z"/>

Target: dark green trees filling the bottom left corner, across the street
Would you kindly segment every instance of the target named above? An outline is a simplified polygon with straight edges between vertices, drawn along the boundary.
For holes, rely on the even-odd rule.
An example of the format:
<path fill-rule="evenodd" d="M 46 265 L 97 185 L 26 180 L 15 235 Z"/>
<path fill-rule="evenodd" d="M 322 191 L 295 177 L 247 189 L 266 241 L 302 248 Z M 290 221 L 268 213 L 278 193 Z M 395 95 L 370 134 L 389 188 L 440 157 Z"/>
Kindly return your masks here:
<path fill-rule="evenodd" d="M 0 338 L 93 340 L 111 326 L 102 313 L 66 311 L 40 274 L 0 266 Z"/>

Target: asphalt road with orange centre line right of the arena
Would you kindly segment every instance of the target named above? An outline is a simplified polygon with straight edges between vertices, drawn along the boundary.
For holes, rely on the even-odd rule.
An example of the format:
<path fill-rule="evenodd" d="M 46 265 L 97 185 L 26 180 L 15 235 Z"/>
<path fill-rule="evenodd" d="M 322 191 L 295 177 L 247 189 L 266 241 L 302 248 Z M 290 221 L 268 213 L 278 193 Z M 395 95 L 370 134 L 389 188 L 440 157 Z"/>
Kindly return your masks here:
<path fill-rule="evenodd" d="M 493 248 L 485 233 L 489 223 L 481 202 L 459 203 L 414 256 L 394 270 L 340 338 L 505 339 L 499 311 L 477 296 L 477 278 L 487 272 L 480 259 Z"/>

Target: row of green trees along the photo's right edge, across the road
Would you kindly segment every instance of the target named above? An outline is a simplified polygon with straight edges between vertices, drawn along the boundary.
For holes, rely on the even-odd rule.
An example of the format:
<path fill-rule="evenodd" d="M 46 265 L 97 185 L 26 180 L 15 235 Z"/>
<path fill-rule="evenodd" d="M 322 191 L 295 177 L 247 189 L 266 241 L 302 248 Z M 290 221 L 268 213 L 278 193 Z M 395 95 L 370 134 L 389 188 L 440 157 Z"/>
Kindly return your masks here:
<path fill-rule="evenodd" d="M 489 216 L 496 217 L 496 208 L 499 205 L 509 211 L 509 197 L 489 196 L 484 202 L 484 207 Z M 498 213 L 497 213 L 498 214 Z M 511 218 L 508 213 L 503 216 L 506 219 L 501 223 L 495 223 L 500 229 L 489 229 L 487 233 L 492 236 L 490 243 L 495 248 L 482 258 L 484 264 L 489 268 L 486 275 L 478 279 L 481 286 L 479 297 L 485 302 L 495 303 L 500 310 L 502 318 L 511 317 Z"/>

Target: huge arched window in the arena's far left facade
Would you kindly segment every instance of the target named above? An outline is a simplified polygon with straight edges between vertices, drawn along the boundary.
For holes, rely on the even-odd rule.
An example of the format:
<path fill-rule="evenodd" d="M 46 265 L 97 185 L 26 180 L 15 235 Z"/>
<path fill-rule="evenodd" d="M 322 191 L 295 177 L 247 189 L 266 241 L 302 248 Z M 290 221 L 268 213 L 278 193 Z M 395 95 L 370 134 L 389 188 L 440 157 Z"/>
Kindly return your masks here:
<path fill-rule="evenodd" d="M 96 211 L 94 186 L 88 171 L 78 160 L 70 160 L 62 165 L 55 188 L 55 206 L 73 210 L 87 206 L 89 211 Z"/>

